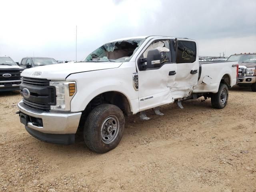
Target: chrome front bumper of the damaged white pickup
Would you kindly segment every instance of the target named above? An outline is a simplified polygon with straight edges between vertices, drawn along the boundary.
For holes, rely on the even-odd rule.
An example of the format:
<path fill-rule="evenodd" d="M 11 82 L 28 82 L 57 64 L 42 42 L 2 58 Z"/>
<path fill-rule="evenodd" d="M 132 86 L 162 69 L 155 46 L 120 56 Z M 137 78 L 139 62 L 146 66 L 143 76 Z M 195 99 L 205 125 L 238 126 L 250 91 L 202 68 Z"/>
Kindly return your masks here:
<path fill-rule="evenodd" d="M 24 104 L 23 101 L 18 103 L 18 108 L 28 118 L 25 126 L 45 134 L 75 134 L 82 114 L 82 112 L 54 113 L 35 110 Z M 37 119 L 42 122 L 42 126 L 32 122 Z"/>

